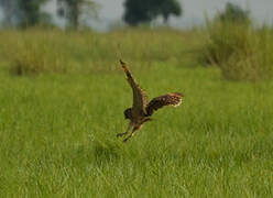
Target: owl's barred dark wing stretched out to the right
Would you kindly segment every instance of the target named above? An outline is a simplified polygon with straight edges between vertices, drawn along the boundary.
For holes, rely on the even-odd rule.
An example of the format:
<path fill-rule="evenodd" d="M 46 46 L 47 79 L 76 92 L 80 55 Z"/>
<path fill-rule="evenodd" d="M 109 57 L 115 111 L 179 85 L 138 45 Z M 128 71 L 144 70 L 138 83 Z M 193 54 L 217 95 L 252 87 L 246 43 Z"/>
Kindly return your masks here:
<path fill-rule="evenodd" d="M 152 99 L 146 107 L 146 116 L 152 116 L 154 111 L 164 106 L 179 106 L 182 103 L 183 97 L 183 94 L 170 92 Z"/>

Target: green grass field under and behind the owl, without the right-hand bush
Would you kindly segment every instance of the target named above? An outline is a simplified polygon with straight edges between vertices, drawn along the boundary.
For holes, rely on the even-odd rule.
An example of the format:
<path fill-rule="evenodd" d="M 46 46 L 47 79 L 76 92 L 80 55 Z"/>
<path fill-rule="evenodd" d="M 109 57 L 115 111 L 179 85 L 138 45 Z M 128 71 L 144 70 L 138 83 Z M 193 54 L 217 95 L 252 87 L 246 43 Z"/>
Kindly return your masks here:
<path fill-rule="evenodd" d="M 201 67 L 197 35 L 30 31 L 0 37 L 7 46 L 0 50 L 0 197 L 273 196 L 273 81 L 228 81 L 218 68 Z M 35 52 L 41 45 L 19 51 L 32 58 L 20 67 L 42 63 L 33 52 L 42 59 L 55 53 L 53 61 L 31 74 L 11 73 L 19 63 L 11 51 L 41 37 L 48 54 Z M 127 144 L 116 138 L 132 103 L 118 48 L 150 99 L 185 95 L 179 108 L 157 111 Z M 62 69 L 45 69 L 52 64 Z"/>

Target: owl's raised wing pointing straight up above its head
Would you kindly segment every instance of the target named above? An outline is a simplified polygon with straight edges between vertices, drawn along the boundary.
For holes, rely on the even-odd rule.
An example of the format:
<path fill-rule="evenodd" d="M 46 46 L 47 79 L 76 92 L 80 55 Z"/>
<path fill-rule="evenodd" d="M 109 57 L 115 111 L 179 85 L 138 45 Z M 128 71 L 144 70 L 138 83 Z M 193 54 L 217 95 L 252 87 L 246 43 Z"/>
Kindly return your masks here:
<path fill-rule="evenodd" d="M 127 80 L 130 84 L 133 90 L 133 113 L 146 113 L 146 105 L 148 105 L 148 97 L 145 91 L 135 82 L 134 78 L 132 77 L 127 64 L 120 59 L 120 64 L 127 75 Z"/>

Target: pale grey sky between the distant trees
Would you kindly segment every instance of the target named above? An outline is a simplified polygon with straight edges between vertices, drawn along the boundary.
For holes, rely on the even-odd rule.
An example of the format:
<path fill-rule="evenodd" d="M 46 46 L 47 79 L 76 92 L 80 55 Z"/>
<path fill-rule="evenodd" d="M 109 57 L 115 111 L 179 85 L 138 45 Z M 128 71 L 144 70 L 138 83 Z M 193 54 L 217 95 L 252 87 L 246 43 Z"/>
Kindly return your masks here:
<path fill-rule="evenodd" d="M 45 10 L 56 13 L 55 0 L 45 7 Z M 100 4 L 99 20 L 91 21 L 90 24 L 97 30 L 107 30 L 111 24 L 121 22 L 124 9 L 124 0 L 94 0 Z M 170 24 L 176 28 L 190 28 L 204 23 L 204 15 L 212 18 L 221 11 L 227 2 L 233 2 L 251 11 L 251 15 L 258 23 L 273 24 L 273 0 L 178 0 L 184 9 L 181 18 L 172 18 Z M 1 13 L 0 13 L 1 16 Z M 64 21 L 57 20 L 64 24 Z"/>

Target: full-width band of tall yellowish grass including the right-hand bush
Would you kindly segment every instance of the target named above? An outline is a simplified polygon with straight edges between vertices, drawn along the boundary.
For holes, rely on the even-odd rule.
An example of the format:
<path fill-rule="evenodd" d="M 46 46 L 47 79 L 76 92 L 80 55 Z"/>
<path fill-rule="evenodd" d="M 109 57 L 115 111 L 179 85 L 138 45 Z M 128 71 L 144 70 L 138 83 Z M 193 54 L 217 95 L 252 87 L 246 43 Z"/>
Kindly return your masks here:
<path fill-rule="evenodd" d="M 199 31 L 140 28 L 107 34 L 32 29 L 4 31 L 0 38 L 0 56 L 17 75 L 105 69 L 103 65 L 116 67 L 122 56 L 134 63 L 172 65 L 192 58 L 196 63 L 189 66 L 215 65 L 232 80 L 273 77 L 273 33 L 249 23 L 208 21 Z"/>

